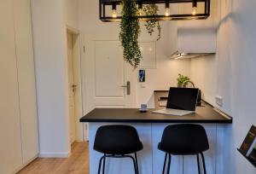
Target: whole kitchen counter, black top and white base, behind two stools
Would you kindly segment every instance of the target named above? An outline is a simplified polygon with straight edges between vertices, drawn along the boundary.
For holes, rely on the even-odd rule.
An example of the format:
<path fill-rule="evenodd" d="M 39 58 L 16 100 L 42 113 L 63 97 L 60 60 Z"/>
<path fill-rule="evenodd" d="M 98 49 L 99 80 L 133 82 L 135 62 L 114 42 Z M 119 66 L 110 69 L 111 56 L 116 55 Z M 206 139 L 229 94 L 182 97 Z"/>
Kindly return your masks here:
<path fill-rule="evenodd" d="M 90 174 L 97 173 L 99 159 L 102 154 L 93 149 L 96 131 L 102 125 L 131 125 L 137 129 L 143 150 L 138 152 L 138 163 L 141 174 L 159 174 L 162 170 L 165 154 L 157 146 L 167 125 L 178 123 L 195 123 L 204 126 L 210 149 L 205 153 L 207 174 L 218 174 L 216 161 L 222 159 L 222 153 L 217 149 L 224 147 L 222 135 L 226 126 L 232 123 L 232 118 L 207 103 L 204 107 L 196 107 L 196 112 L 186 116 L 140 113 L 137 108 L 96 108 L 87 113 L 80 122 L 89 122 L 89 155 Z M 198 173 L 195 156 L 172 156 L 171 173 Z M 202 169 L 202 167 L 201 167 Z M 129 159 L 107 159 L 106 173 L 131 174 L 132 163 Z"/>

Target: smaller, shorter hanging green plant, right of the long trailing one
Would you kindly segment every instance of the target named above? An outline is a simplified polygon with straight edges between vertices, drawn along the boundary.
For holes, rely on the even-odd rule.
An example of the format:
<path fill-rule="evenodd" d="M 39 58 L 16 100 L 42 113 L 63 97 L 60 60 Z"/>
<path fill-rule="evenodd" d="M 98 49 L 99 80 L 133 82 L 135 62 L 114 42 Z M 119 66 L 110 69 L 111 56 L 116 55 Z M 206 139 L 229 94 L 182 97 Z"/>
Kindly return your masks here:
<path fill-rule="evenodd" d="M 144 15 L 157 15 L 158 11 L 159 11 L 159 8 L 154 3 L 143 6 Z M 152 36 L 154 29 L 156 28 L 158 30 L 157 40 L 161 38 L 161 26 L 159 21 L 148 20 L 146 21 L 146 24 L 144 26 L 146 26 L 146 29 L 148 30 L 148 33 L 150 34 L 150 36 Z"/>

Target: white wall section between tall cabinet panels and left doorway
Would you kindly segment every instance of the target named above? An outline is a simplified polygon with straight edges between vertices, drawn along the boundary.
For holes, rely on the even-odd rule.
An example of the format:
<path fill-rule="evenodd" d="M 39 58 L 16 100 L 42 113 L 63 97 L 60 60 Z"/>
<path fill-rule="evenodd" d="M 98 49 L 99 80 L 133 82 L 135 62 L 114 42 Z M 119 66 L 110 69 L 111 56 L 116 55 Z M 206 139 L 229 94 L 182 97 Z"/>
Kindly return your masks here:
<path fill-rule="evenodd" d="M 46 157 L 65 157 L 70 152 L 66 25 L 78 26 L 76 3 L 70 4 L 71 1 L 32 0 L 39 151 Z"/>

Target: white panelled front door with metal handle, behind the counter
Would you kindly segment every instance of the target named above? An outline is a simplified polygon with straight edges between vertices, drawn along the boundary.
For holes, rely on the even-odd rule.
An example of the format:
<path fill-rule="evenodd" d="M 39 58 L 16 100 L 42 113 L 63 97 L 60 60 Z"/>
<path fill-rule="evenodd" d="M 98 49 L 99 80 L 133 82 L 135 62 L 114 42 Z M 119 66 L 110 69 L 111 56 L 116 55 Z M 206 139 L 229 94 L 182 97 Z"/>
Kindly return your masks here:
<path fill-rule="evenodd" d="M 119 41 L 96 41 L 95 107 L 134 107 L 135 73 Z"/>

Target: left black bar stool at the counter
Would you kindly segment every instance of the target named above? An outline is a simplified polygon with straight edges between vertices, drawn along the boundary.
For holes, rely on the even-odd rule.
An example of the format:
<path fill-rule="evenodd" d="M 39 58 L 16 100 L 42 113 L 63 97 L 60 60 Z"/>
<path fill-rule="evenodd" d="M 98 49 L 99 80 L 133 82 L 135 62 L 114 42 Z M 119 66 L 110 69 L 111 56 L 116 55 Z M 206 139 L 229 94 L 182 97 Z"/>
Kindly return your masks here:
<path fill-rule="evenodd" d="M 97 152 L 104 154 L 100 159 L 98 174 L 101 173 L 102 160 L 105 172 L 106 158 L 131 158 L 135 174 L 139 174 L 137 152 L 143 149 L 137 130 L 130 125 L 104 125 L 96 131 L 93 147 Z M 135 158 L 129 154 L 134 154 Z"/>

